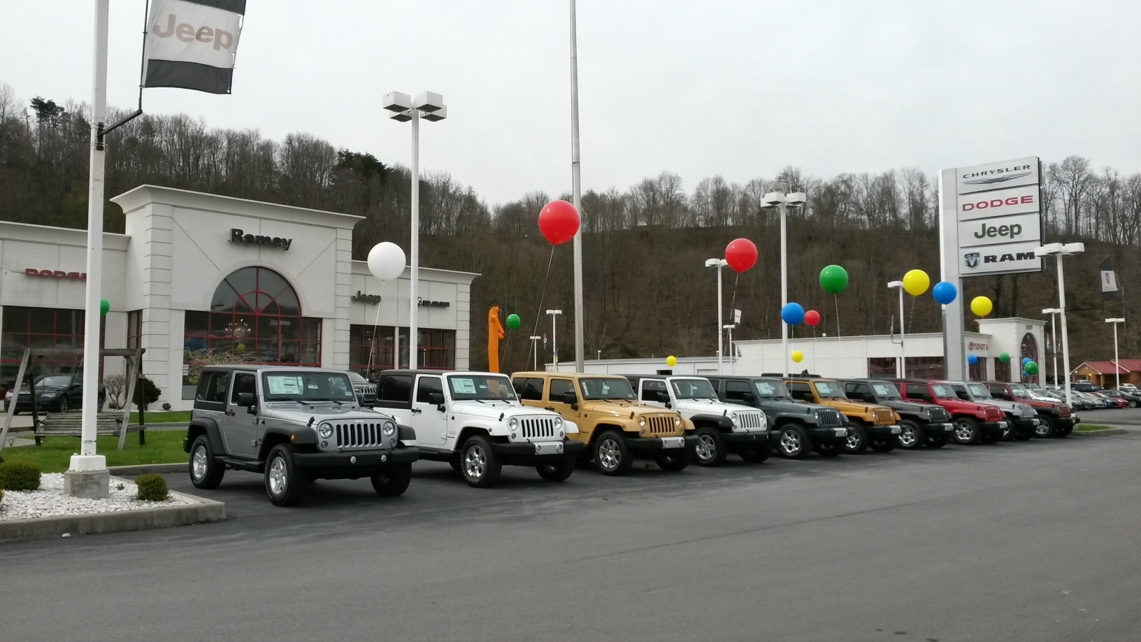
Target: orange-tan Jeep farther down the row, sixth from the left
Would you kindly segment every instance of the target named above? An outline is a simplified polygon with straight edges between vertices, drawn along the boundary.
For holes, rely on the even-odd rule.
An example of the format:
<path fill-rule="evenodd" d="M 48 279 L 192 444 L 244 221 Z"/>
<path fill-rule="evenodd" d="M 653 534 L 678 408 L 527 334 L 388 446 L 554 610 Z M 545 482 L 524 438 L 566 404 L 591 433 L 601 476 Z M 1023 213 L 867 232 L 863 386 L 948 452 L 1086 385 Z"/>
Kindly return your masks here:
<path fill-rule="evenodd" d="M 792 377 L 785 379 L 785 385 L 796 401 L 831 406 L 848 419 L 844 452 L 864 452 L 868 446 L 879 452 L 896 448 L 896 438 L 900 432 L 899 415 L 891 408 L 848 399 L 844 386 L 835 379 Z"/>

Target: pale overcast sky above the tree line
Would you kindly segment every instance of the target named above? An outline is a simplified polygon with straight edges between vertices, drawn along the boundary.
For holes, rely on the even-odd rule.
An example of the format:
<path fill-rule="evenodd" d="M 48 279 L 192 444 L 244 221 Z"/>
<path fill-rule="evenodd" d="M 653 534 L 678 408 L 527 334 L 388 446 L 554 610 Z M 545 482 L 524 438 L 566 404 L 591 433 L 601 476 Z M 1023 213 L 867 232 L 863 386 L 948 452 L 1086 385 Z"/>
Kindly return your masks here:
<path fill-rule="evenodd" d="M 108 102 L 133 107 L 144 0 L 112 0 Z M 578 0 L 583 191 L 1069 154 L 1141 171 L 1141 2 Z M 0 2 L 0 82 L 91 99 L 94 2 Z M 489 204 L 570 190 L 567 0 L 249 0 L 233 94 L 144 110 L 305 131 L 411 162 L 388 91 L 443 94 L 421 168 Z"/>

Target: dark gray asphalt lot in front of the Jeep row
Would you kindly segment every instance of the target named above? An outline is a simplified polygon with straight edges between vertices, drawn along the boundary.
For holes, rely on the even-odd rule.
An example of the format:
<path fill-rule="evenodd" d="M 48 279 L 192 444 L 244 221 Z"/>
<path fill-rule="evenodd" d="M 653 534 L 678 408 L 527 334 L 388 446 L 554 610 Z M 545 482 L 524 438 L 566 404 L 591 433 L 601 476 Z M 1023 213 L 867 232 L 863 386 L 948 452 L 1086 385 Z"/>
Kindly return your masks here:
<path fill-rule="evenodd" d="M 10 640 L 1135 640 L 1141 432 L 468 488 L 228 472 L 222 523 L 0 547 Z M 185 474 L 167 475 L 191 491 Z"/>

